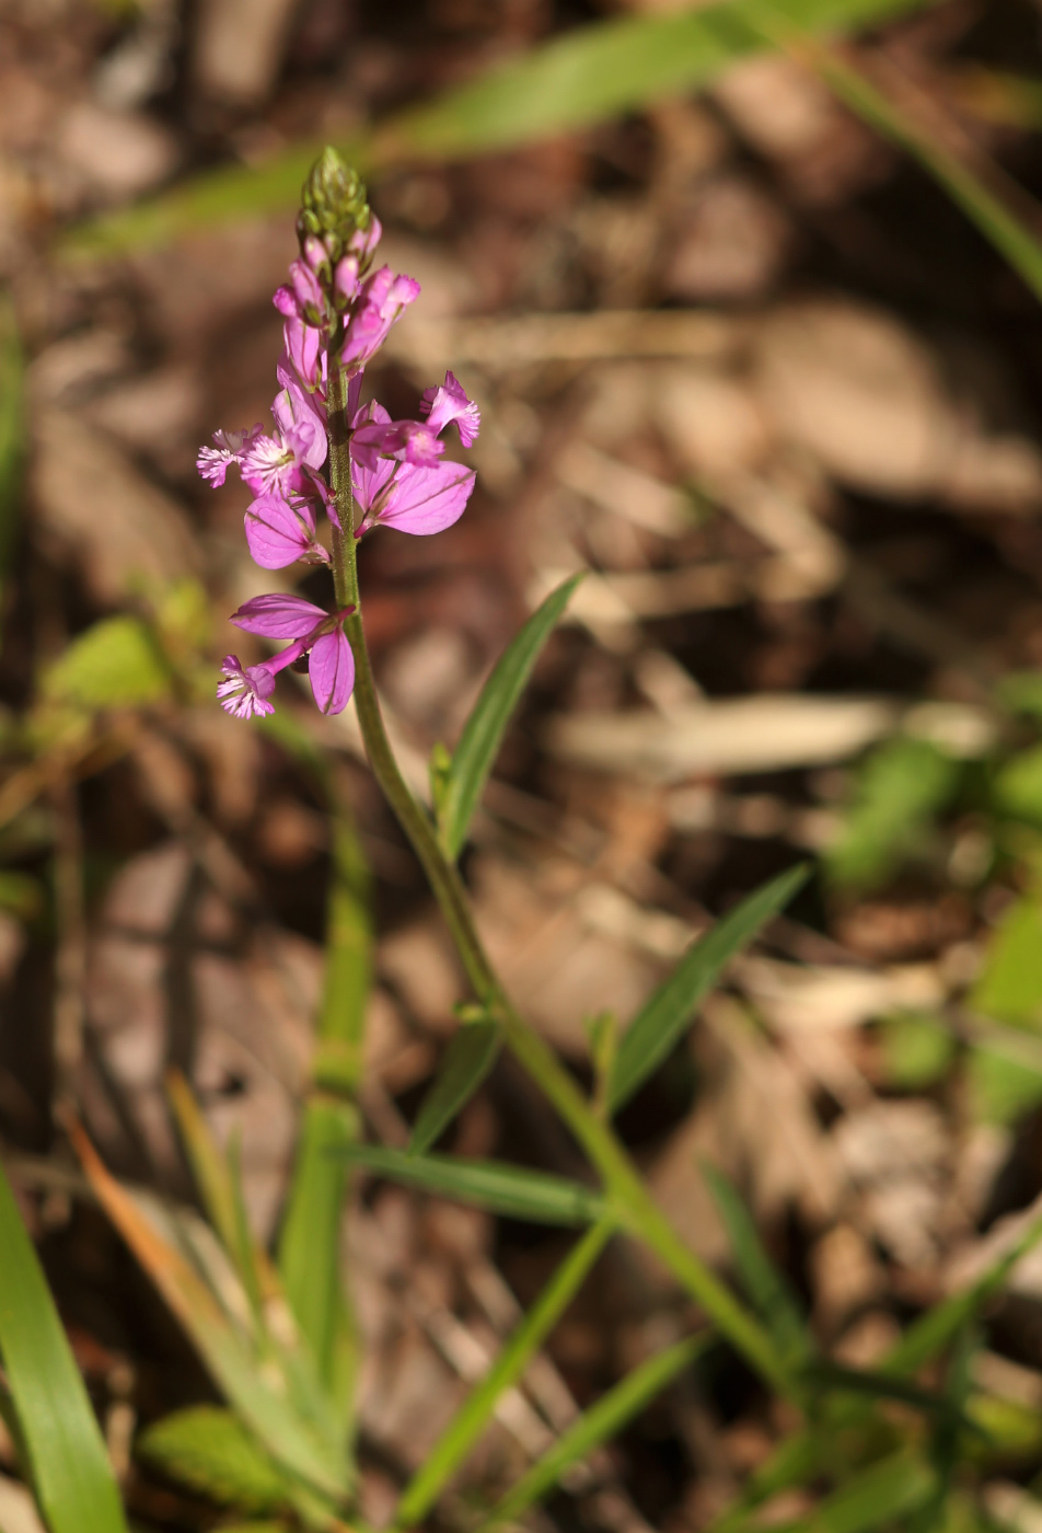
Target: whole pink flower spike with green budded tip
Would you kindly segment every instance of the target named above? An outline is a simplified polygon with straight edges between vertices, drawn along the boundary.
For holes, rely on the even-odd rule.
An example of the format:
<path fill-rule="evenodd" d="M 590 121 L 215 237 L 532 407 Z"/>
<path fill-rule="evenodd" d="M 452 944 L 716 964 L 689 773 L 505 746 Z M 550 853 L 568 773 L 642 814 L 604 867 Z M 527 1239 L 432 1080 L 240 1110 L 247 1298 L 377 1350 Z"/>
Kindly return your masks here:
<path fill-rule="evenodd" d="M 362 374 L 391 327 L 420 293 L 412 277 L 391 267 L 369 271 L 380 222 L 365 204 L 357 176 L 331 150 L 305 182 L 297 236 L 300 256 L 290 281 L 274 294 L 283 317 L 283 350 L 276 366 L 279 392 L 271 405 L 274 428 L 218 431 L 199 451 L 198 469 L 221 486 L 238 468 L 253 492 L 245 538 L 262 569 L 296 563 L 329 566 L 319 537 L 323 514 L 336 540 L 363 537 L 374 527 L 397 527 L 426 537 L 457 521 L 473 489 L 473 469 L 444 457 L 446 428 L 455 423 L 463 448 L 472 446 L 481 417 L 463 385 L 424 389 L 420 420 L 391 420 L 375 400 L 360 402 Z M 351 526 L 342 521 L 329 486 L 329 379 L 346 380 L 345 428 L 351 458 Z M 357 512 L 356 512 L 357 506 Z M 360 512 L 360 515 L 359 515 Z M 354 685 L 354 656 L 345 633 L 352 607 L 326 612 L 288 593 L 254 596 L 233 615 L 245 633 L 291 641 L 259 665 L 227 655 L 218 685 L 221 707 L 238 719 L 274 711 L 274 679 L 288 665 L 306 665 L 316 705 L 340 713 Z M 306 656 L 306 659 L 305 659 Z"/>

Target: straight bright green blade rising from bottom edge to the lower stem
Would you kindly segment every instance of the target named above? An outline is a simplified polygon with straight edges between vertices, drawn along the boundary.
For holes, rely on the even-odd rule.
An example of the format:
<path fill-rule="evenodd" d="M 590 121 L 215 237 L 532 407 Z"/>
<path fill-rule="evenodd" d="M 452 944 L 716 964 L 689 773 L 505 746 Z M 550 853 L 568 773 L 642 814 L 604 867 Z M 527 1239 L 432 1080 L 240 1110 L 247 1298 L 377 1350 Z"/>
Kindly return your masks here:
<path fill-rule="evenodd" d="M 558 1320 L 575 1298 L 584 1279 L 601 1256 L 614 1225 L 595 1225 L 569 1251 L 535 1305 L 504 1344 L 480 1384 L 470 1390 L 444 1433 L 434 1444 L 421 1467 L 412 1476 L 395 1513 L 395 1527 L 421 1522 L 441 1489 L 463 1464 L 495 1412 L 501 1395 L 518 1383 L 526 1367 L 550 1335 Z"/>

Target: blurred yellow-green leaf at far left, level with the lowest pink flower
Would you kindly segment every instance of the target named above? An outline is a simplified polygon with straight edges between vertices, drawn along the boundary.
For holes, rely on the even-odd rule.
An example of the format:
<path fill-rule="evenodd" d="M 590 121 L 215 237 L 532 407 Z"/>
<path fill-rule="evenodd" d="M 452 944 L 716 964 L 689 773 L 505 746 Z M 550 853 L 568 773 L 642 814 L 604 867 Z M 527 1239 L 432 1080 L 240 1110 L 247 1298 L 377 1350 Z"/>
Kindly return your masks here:
<path fill-rule="evenodd" d="M 104 618 L 48 668 L 43 693 L 83 708 L 130 708 L 170 693 L 170 673 L 144 622 Z"/>

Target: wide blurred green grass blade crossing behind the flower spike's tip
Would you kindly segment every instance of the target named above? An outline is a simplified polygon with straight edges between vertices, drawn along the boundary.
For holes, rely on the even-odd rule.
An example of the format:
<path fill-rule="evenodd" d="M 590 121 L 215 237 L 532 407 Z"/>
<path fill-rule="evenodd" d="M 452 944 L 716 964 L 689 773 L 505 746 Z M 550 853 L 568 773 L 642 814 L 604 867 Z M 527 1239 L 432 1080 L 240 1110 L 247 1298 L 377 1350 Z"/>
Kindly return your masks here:
<path fill-rule="evenodd" d="M 809 31 L 846 31 L 921 9 L 929 0 L 786 0 Z M 414 159 L 454 159 L 590 127 L 619 112 L 690 94 L 763 48 L 752 0 L 621 17 L 575 28 L 516 61 L 378 124 L 369 141 L 336 147 L 366 175 Z M 103 215 L 64 238 L 69 253 L 116 254 L 279 210 L 291 212 L 320 144 L 259 167 L 208 170 L 138 207 Z"/>

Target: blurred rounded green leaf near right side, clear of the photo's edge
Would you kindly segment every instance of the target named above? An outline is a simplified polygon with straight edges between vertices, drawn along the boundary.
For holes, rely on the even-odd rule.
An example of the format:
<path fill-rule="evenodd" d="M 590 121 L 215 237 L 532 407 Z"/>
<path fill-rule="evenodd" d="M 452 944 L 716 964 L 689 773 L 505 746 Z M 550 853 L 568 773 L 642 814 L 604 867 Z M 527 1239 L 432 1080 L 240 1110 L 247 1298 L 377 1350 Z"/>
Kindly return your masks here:
<path fill-rule="evenodd" d="M 872 751 L 826 854 L 832 878 L 858 889 L 886 883 L 952 796 L 958 773 L 958 763 L 929 740 L 899 737 Z"/>

